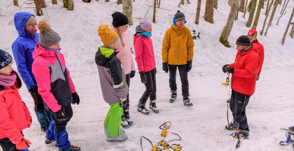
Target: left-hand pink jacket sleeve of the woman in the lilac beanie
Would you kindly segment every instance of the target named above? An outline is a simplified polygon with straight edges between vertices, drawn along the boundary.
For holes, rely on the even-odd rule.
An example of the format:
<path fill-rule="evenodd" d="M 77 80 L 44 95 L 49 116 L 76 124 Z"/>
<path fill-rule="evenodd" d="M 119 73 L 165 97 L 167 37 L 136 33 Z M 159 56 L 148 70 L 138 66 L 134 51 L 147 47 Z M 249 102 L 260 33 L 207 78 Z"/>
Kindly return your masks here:
<path fill-rule="evenodd" d="M 134 40 L 134 49 L 136 54 L 136 62 L 138 66 L 138 71 L 142 72 L 144 71 L 143 61 L 142 61 L 142 51 L 143 51 L 143 41 L 141 37 L 137 37 Z"/>

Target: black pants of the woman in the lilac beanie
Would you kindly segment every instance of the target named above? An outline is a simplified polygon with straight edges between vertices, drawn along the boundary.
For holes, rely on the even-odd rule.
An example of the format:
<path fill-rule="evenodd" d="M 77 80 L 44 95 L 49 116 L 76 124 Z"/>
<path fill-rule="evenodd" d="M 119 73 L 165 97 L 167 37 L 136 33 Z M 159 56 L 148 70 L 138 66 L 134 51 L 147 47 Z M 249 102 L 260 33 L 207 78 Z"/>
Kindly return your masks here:
<path fill-rule="evenodd" d="M 156 68 L 145 72 L 145 75 L 147 76 L 147 83 L 144 83 L 146 90 L 140 99 L 141 104 L 145 104 L 149 97 L 151 101 L 156 100 Z"/>

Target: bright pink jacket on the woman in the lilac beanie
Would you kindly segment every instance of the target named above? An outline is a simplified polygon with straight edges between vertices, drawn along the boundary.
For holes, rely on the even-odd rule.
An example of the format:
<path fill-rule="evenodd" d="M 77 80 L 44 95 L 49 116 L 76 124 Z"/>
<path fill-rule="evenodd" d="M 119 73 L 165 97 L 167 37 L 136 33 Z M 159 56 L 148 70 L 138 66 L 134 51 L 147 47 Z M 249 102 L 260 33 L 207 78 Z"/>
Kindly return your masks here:
<path fill-rule="evenodd" d="M 138 71 L 151 71 L 155 68 L 155 56 L 151 37 L 141 37 L 134 34 L 134 49 Z"/>

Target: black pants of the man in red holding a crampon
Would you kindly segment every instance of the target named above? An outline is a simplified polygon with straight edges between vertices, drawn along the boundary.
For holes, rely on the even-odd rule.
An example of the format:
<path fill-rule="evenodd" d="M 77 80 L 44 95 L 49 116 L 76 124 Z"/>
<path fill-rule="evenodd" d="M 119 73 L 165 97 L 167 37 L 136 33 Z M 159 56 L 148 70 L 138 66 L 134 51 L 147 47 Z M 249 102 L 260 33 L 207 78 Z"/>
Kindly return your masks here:
<path fill-rule="evenodd" d="M 251 95 L 245 95 L 232 89 L 230 98 L 230 110 L 233 114 L 233 119 L 239 123 L 240 130 L 249 132 L 247 117 L 245 113 L 246 106 L 248 105 Z"/>

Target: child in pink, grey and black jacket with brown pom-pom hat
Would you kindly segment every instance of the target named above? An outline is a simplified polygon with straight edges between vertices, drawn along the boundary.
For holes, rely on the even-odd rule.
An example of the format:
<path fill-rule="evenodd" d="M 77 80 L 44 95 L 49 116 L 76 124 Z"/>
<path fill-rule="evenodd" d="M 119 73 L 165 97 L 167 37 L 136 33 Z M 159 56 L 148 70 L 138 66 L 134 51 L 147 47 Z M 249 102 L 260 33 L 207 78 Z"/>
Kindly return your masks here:
<path fill-rule="evenodd" d="M 69 76 L 63 54 L 60 52 L 58 33 L 53 31 L 49 23 L 38 23 L 39 43 L 33 58 L 32 71 L 38 83 L 38 92 L 45 102 L 46 110 L 51 112 L 53 120 L 46 133 L 45 144 L 56 141 L 59 151 L 80 151 L 81 148 L 71 145 L 66 132 L 66 124 L 73 116 L 72 104 L 79 104 L 74 83 Z"/>

